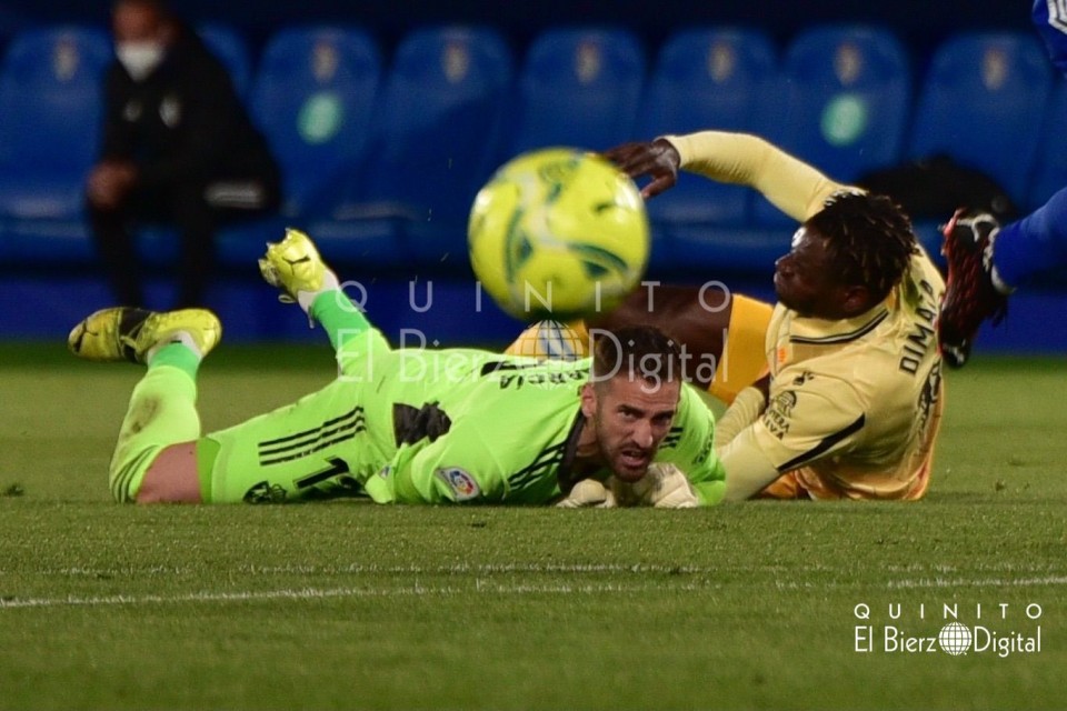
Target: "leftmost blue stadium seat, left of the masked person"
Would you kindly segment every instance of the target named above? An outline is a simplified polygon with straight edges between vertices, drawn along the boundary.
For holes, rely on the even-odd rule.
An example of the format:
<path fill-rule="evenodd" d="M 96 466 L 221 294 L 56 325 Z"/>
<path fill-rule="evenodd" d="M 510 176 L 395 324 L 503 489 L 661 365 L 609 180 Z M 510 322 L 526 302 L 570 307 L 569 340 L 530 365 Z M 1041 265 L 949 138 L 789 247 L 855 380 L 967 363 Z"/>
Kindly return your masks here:
<path fill-rule="evenodd" d="M 0 67 L 0 223 L 8 257 L 92 259 L 82 194 L 111 60 L 108 34 L 88 27 L 26 30 L 8 48 Z"/>

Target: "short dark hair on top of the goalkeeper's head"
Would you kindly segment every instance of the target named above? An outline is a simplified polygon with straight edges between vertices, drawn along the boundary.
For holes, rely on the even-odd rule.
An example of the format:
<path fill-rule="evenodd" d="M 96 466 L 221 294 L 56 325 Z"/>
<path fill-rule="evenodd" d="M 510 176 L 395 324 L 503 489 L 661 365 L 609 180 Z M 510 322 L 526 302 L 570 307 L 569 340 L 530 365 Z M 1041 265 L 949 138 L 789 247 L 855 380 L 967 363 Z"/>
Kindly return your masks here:
<path fill-rule="evenodd" d="M 681 350 L 654 326 L 627 326 L 599 332 L 592 351 L 597 383 L 626 375 L 650 383 L 681 380 Z"/>

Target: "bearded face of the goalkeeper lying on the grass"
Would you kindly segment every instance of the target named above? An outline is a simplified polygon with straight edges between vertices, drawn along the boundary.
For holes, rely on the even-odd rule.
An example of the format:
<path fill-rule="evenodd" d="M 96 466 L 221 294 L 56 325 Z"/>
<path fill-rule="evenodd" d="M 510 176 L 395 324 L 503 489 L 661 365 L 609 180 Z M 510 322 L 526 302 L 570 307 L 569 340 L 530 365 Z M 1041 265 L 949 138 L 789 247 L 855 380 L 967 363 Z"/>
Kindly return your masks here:
<path fill-rule="evenodd" d="M 582 413 L 597 438 L 600 458 L 622 481 L 648 471 L 670 431 L 681 385 L 620 373 L 582 390 Z"/>

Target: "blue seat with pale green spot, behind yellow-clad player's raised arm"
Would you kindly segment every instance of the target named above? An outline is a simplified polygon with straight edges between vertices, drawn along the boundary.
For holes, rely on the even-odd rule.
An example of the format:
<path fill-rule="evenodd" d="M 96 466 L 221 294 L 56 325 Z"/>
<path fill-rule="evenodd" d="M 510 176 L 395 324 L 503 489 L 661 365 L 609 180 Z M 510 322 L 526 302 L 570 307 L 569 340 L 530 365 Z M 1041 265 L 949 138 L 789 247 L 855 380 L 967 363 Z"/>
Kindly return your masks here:
<path fill-rule="evenodd" d="M 896 164 L 910 112 L 908 54 L 888 30 L 824 26 L 798 34 L 782 62 L 784 101 L 769 138 L 840 182 Z M 790 223 L 765 199 L 760 224 Z"/>

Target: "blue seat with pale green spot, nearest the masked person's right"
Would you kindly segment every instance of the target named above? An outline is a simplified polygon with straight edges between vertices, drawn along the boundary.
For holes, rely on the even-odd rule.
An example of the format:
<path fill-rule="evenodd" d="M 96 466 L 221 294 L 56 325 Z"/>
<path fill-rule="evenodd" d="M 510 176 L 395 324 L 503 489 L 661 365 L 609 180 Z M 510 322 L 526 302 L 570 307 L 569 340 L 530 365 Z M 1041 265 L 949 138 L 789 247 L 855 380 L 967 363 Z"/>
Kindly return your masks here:
<path fill-rule="evenodd" d="M 380 79 L 380 50 L 360 29 L 296 27 L 267 41 L 250 108 L 281 166 L 286 216 L 362 159 Z"/>

